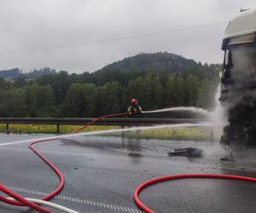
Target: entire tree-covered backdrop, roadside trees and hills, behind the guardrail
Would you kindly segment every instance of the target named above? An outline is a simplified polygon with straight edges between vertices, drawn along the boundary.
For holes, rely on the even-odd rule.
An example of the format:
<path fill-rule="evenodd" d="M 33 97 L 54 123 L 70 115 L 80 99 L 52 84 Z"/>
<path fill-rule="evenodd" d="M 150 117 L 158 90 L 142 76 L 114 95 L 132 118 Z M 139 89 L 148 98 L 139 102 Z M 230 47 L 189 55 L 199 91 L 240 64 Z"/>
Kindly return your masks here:
<path fill-rule="evenodd" d="M 143 110 L 212 109 L 220 68 L 156 53 L 135 55 L 80 74 L 50 68 L 4 71 L 0 72 L 0 117 L 98 117 L 125 112 L 131 97 L 139 100 Z"/>

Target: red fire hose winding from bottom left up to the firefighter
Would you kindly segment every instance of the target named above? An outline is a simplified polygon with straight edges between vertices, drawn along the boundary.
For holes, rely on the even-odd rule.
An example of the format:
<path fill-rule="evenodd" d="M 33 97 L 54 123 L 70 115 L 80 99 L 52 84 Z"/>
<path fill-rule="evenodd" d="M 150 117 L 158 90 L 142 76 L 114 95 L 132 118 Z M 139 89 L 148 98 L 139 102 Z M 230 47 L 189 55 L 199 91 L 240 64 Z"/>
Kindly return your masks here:
<path fill-rule="evenodd" d="M 95 123 L 98 120 L 101 120 L 102 118 L 110 118 L 110 117 L 117 117 L 117 116 L 124 116 L 126 115 L 126 112 L 123 113 L 116 113 L 116 114 L 109 114 L 109 115 L 105 115 L 102 116 L 100 118 L 96 118 L 94 120 L 92 120 L 90 123 L 85 124 L 82 128 L 80 128 L 79 130 L 76 130 L 75 133 L 78 133 L 81 130 L 84 130 L 86 127 L 88 127 L 90 124 Z M 44 196 L 43 198 L 41 198 L 42 200 L 49 200 L 51 198 L 53 198 L 56 194 L 60 193 L 62 188 L 64 187 L 65 184 L 65 180 L 64 180 L 64 176 L 61 174 L 61 171 L 55 166 L 55 164 L 53 164 L 48 158 L 46 158 L 44 156 L 43 153 L 40 153 L 35 147 L 34 145 L 36 143 L 40 143 L 40 142 L 44 142 L 44 141 L 52 141 L 54 139 L 43 139 L 43 140 L 38 140 L 38 141 L 33 141 L 30 145 L 29 148 L 38 155 L 39 158 L 43 159 L 44 162 L 46 164 L 49 165 L 49 167 L 55 171 L 55 174 L 59 177 L 59 184 L 58 186 L 55 188 L 55 190 L 52 193 L 49 193 L 48 195 Z M 14 205 L 21 205 L 21 206 L 28 206 L 30 208 L 32 208 L 33 210 L 37 210 L 38 212 L 42 212 L 42 213 L 50 213 L 51 211 L 44 209 L 43 207 L 41 207 L 38 204 L 34 204 L 31 201 L 24 199 L 23 197 L 21 197 L 19 194 L 13 192 L 12 190 L 10 190 L 8 187 L 3 186 L 2 184 L 0 184 L 0 191 L 2 191 L 3 193 L 8 194 L 9 196 L 11 196 L 12 198 L 14 198 L 15 200 L 10 200 L 10 199 L 6 199 L 3 196 L 0 196 L 0 201 L 3 201 L 7 204 L 14 204 Z"/>

